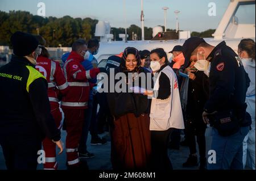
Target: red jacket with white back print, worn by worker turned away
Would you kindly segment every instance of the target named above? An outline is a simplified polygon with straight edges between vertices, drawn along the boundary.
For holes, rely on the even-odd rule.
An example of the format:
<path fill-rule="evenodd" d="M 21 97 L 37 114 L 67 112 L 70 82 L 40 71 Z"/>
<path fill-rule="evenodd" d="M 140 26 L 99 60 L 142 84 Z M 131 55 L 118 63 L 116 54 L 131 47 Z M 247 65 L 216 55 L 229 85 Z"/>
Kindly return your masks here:
<path fill-rule="evenodd" d="M 64 77 L 59 62 L 52 61 L 47 57 L 39 56 L 36 59 L 35 68 L 47 79 L 51 110 L 59 108 L 59 91 L 62 95 L 65 95 L 69 90 L 68 83 Z"/>

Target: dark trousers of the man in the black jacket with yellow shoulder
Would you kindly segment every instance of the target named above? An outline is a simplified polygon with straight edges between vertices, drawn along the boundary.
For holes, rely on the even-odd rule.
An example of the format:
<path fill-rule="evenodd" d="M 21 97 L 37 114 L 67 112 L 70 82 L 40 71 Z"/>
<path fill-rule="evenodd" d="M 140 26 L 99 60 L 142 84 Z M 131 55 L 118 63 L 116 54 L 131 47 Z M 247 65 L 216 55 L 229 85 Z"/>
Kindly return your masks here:
<path fill-rule="evenodd" d="M 36 170 L 42 140 L 33 136 L 2 136 L 0 145 L 8 170 Z"/>

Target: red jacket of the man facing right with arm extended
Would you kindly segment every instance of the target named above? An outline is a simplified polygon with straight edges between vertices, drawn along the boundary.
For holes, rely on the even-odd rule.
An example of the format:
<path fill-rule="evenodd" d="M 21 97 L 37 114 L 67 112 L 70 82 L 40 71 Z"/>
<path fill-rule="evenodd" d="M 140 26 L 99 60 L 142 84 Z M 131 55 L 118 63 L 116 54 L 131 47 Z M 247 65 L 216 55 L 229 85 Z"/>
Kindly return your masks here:
<path fill-rule="evenodd" d="M 96 78 L 100 69 L 94 68 L 86 71 L 81 65 L 82 61 L 84 61 L 84 58 L 74 51 L 69 54 L 67 61 L 65 61 L 63 71 L 70 90 L 61 101 L 61 108 L 88 108 L 90 92 L 88 79 Z"/>

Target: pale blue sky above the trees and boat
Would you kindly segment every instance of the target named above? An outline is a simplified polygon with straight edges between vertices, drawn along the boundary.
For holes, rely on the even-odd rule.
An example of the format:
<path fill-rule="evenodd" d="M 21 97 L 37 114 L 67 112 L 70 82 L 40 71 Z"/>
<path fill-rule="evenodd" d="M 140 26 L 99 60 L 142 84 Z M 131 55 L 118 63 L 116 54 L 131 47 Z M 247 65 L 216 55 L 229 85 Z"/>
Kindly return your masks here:
<path fill-rule="evenodd" d="M 46 16 L 61 18 L 69 15 L 73 18 L 90 17 L 105 20 L 111 27 L 129 27 L 131 24 L 141 26 L 141 0 L 0 0 L 0 10 L 29 11 L 36 15 L 38 3 L 46 5 Z M 209 16 L 209 3 L 216 5 L 216 15 Z M 167 28 L 176 28 L 174 11 L 178 15 L 180 30 L 205 31 L 216 29 L 230 0 L 144 0 L 144 26 L 164 25 L 164 11 L 167 10 Z M 125 18 L 126 16 L 126 18 Z M 255 5 L 247 5 L 238 9 L 240 23 L 255 24 Z M 126 22 L 126 23 L 125 23 Z"/>

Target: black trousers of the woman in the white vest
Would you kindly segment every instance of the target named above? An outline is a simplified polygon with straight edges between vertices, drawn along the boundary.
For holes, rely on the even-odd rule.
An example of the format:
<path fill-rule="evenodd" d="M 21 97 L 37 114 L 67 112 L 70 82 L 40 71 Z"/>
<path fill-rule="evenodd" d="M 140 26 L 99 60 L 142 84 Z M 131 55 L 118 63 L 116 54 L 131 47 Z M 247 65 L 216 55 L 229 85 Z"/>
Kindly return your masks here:
<path fill-rule="evenodd" d="M 173 128 L 167 131 L 151 131 L 152 169 L 172 170 L 172 163 L 168 157 L 169 136 Z"/>

